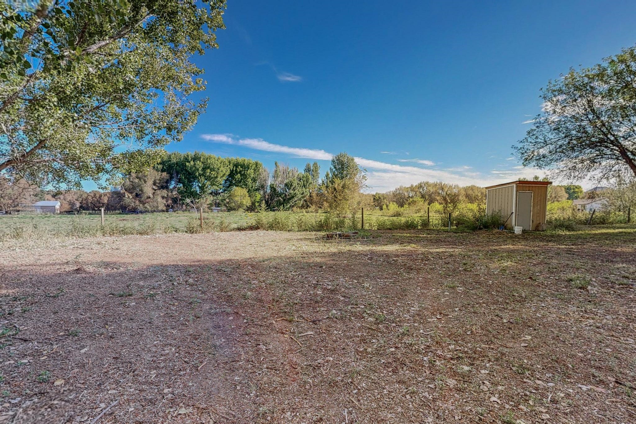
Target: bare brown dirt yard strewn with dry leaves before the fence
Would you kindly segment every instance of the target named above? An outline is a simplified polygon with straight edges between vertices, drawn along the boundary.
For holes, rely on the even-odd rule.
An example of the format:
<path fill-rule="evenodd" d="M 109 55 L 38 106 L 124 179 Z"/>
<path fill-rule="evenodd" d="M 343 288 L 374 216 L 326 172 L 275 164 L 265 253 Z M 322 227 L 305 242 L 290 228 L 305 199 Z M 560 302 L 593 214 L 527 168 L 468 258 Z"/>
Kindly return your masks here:
<path fill-rule="evenodd" d="M 634 423 L 635 289 L 634 226 L 0 250 L 0 421 Z"/>

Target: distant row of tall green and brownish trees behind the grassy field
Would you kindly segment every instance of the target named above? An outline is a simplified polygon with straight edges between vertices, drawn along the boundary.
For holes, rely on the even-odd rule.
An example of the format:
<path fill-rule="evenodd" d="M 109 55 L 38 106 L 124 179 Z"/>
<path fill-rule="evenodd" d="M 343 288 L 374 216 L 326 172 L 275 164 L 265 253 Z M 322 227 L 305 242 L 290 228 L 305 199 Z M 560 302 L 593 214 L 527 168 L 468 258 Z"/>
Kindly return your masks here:
<path fill-rule="evenodd" d="M 300 171 L 275 162 L 270 173 L 263 163 L 214 154 L 169 153 L 145 172 L 120 175 L 110 191 L 40 189 L 25 179 L 0 175 L 0 210 L 24 209 L 38 200 L 59 200 L 63 211 L 187 210 L 225 207 L 228 210 L 291 210 L 323 207 L 346 214 L 361 205 L 363 168 L 352 156 L 334 156 L 321 179 L 317 162 Z"/>

